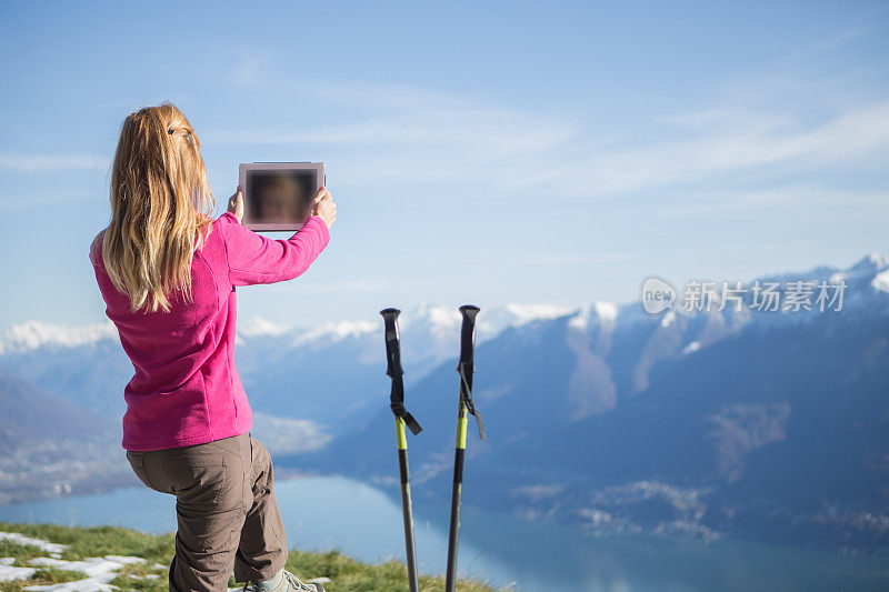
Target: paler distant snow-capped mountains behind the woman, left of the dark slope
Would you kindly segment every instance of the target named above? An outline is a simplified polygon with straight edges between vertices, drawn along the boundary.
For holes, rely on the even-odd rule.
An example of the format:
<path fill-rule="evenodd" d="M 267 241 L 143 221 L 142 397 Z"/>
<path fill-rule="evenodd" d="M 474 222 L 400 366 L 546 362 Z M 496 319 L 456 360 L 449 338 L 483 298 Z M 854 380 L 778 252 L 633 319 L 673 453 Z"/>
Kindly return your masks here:
<path fill-rule="evenodd" d="M 480 323 L 478 339 L 481 342 L 507 327 L 563 312 L 519 304 L 495 309 Z M 460 328 L 456 309 L 422 304 L 402 313 L 399 324 L 407 380 L 419 380 L 456 355 Z M 368 320 L 313 329 L 258 318 L 240 321 L 236 362 L 254 410 L 310 422 L 312 430 L 327 434 L 313 441 L 326 441 L 360 421 L 364 405 L 384 388 L 382 320 L 374 311 Z M 40 321 L 16 325 L 0 340 L 0 367 L 72 404 L 114 418 L 118 424 L 126 411 L 122 393 L 132 364 L 110 321 L 82 327 Z M 282 443 L 281 450 L 302 446 L 299 433 L 308 424 L 302 425 L 304 430 L 291 431 L 296 441 Z"/>

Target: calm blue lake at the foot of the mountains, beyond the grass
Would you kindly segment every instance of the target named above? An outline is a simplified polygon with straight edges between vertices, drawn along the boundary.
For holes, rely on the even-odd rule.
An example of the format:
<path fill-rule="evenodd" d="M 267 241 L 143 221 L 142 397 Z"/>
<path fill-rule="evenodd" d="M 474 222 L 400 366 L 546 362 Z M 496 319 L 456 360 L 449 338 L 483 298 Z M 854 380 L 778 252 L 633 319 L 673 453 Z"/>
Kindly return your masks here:
<path fill-rule="evenodd" d="M 394 491 L 337 476 L 276 481 L 288 544 L 363 561 L 403 560 Z M 176 530 L 174 500 L 143 486 L 0 505 L 0 520 Z M 420 570 L 442 573 L 448 508 L 414 503 Z M 593 536 L 463 506 L 463 575 L 526 592 L 889 590 L 889 560 L 769 545 L 655 536 Z M 306 574 L 311 576 L 312 574 Z"/>

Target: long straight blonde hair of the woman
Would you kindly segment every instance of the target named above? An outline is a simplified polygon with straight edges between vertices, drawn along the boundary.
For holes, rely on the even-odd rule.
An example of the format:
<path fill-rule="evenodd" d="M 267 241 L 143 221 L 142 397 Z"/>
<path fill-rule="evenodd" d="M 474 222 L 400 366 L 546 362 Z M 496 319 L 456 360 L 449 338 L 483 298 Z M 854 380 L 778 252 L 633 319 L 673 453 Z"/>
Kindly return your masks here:
<path fill-rule="evenodd" d="M 143 307 L 169 312 L 177 290 L 191 300 L 192 255 L 209 233 L 216 207 L 200 148 L 173 104 L 146 107 L 123 120 L 102 260 L 132 312 Z"/>

